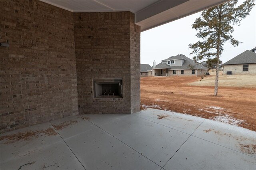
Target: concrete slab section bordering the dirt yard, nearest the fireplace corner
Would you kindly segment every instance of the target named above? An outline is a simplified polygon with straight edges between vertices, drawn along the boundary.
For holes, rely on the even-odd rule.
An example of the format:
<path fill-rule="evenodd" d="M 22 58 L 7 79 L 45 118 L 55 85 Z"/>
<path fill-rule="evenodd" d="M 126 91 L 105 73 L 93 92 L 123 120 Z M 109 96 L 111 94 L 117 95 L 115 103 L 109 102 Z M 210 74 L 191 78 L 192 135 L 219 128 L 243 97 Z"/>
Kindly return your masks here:
<path fill-rule="evenodd" d="M 192 134 L 200 123 L 205 120 L 200 117 L 151 108 L 134 113 L 133 115 L 188 134 Z M 162 117 L 162 119 L 159 119 L 159 117 Z"/>

